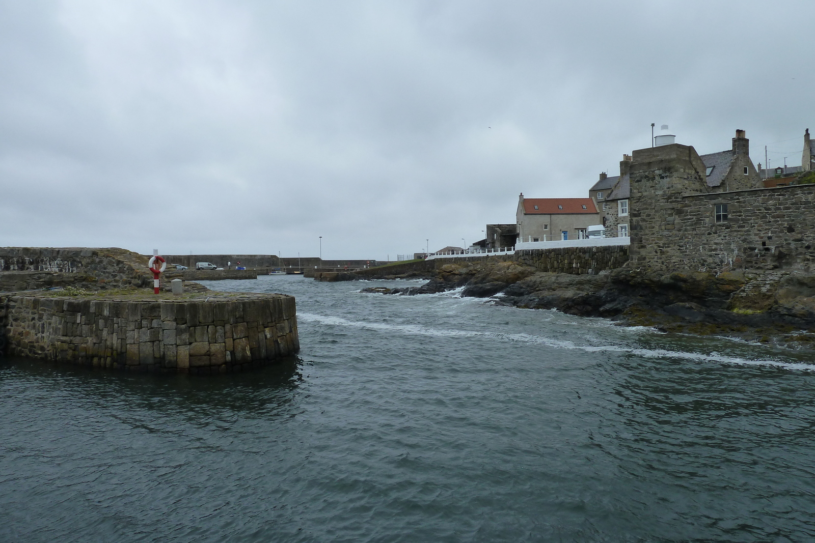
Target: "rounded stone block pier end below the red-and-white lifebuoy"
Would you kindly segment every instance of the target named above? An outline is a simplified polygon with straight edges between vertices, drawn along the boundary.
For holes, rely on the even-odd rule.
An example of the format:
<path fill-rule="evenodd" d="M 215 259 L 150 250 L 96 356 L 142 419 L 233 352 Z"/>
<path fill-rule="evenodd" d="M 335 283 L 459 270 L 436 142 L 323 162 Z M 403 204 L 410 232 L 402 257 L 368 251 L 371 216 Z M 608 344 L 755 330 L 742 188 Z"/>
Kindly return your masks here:
<path fill-rule="evenodd" d="M 0 333 L 11 356 L 190 374 L 249 370 L 299 349 L 292 296 L 209 298 L 0 296 Z"/>

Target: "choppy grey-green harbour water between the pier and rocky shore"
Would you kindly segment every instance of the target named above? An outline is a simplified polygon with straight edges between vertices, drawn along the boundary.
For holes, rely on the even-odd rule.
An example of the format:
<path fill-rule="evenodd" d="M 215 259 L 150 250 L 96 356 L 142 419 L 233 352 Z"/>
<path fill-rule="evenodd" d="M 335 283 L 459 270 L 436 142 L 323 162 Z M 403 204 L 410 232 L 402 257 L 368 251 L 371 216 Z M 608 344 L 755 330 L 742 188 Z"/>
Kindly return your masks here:
<path fill-rule="evenodd" d="M 372 284 L 210 283 L 297 296 L 255 373 L 0 362 L 0 541 L 815 538 L 811 357 Z"/>

